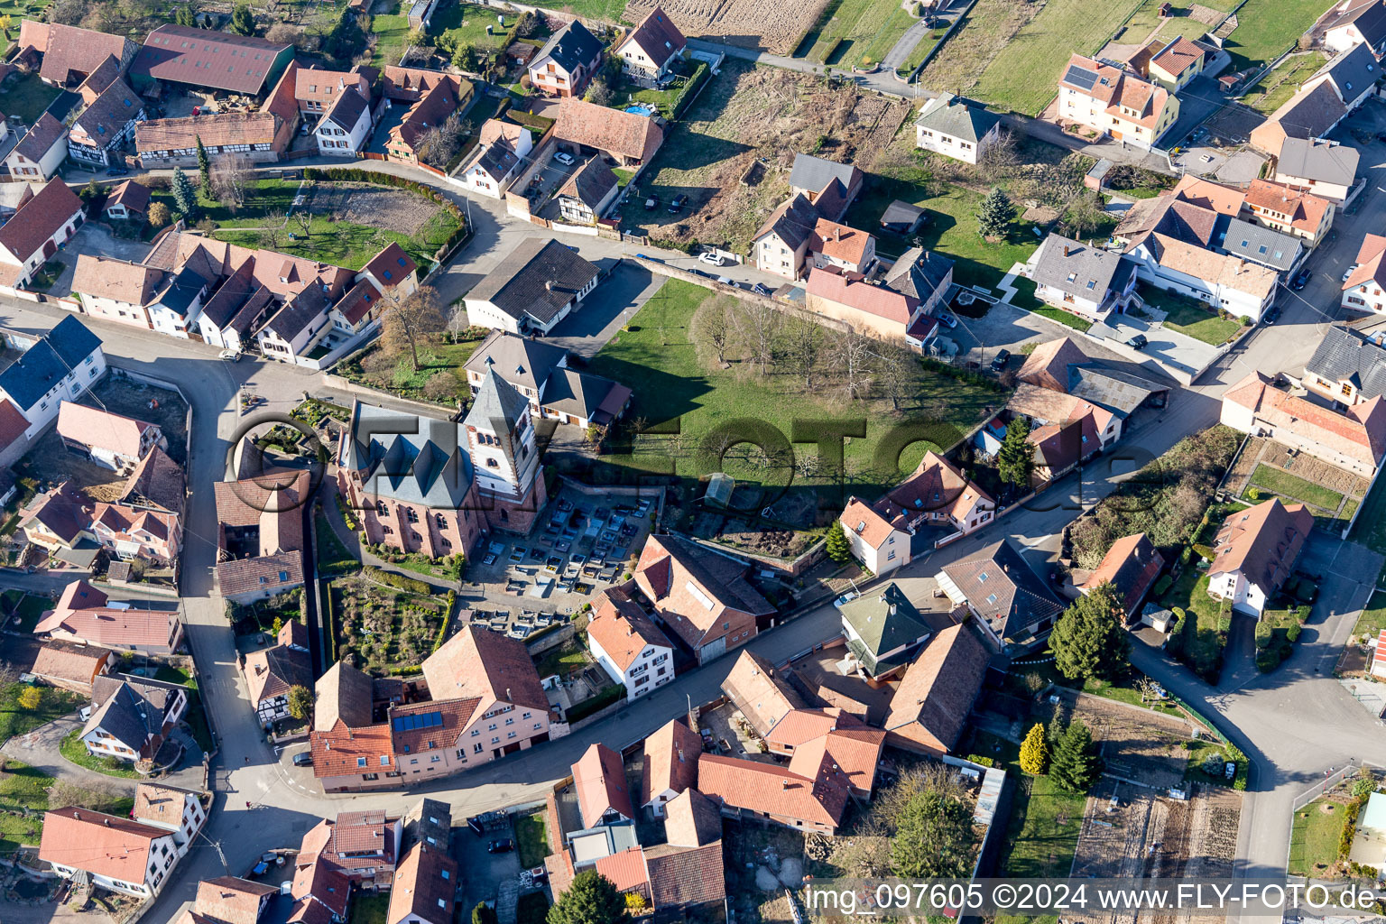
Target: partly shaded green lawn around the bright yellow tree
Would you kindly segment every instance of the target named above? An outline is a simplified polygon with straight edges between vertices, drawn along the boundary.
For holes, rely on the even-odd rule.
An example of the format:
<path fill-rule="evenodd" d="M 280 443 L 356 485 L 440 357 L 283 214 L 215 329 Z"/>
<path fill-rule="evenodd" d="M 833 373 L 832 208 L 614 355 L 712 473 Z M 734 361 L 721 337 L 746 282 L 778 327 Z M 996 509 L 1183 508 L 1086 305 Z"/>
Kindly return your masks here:
<path fill-rule="evenodd" d="M 1020 748 L 1010 741 L 979 731 L 973 749 L 1003 765 L 1016 781 L 1001 870 L 1012 878 L 1067 877 L 1087 797 L 1064 792 L 1048 776 L 1024 773 L 1017 763 Z"/>

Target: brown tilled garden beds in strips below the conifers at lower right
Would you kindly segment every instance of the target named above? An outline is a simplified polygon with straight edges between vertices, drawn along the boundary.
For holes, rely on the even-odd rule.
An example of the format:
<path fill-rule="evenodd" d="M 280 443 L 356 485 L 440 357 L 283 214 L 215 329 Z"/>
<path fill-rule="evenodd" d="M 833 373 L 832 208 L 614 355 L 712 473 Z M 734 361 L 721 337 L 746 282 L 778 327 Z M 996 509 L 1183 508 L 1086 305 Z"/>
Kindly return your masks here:
<path fill-rule="evenodd" d="M 1198 791 L 1188 799 L 1173 799 L 1143 787 L 1103 780 L 1088 799 L 1073 858 L 1073 878 L 1229 876 L 1240 813 L 1240 795 L 1228 790 Z M 1173 914 L 1141 917 L 1174 920 Z M 1109 921 L 1112 917 L 1070 920 Z"/>

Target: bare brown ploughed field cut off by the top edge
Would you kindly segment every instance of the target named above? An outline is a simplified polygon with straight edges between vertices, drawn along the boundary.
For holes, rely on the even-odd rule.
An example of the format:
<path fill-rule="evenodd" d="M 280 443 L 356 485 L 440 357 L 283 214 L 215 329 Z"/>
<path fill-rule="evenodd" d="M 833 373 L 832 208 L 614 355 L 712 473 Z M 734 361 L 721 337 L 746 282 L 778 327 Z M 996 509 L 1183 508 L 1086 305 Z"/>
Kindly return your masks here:
<path fill-rule="evenodd" d="M 600 0 L 584 0 L 596 3 Z M 883 0 L 884 1 L 884 0 Z M 794 54 L 804 35 L 818 22 L 826 0 L 631 0 L 626 22 L 639 22 L 654 7 L 668 14 L 686 36 L 701 36 L 771 54 Z M 581 12 L 578 10 L 578 12 Z M 604 17 L 608 18 L 608 17 Z"/>

